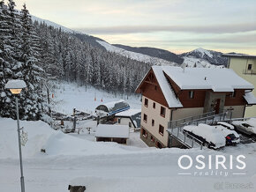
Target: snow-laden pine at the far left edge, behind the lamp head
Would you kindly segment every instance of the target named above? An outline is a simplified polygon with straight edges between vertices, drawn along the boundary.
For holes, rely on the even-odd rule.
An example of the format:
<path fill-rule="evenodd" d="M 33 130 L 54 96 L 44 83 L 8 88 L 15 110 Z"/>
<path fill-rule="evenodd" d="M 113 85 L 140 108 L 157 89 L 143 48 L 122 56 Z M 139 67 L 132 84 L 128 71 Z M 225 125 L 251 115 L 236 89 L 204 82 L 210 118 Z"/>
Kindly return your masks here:
<path fill-rule="evenodd" d="M 3 67 L 4 78 L 2 81 L 2 92 L 1 92 L 1 109 L 0 115 L 6 117 L 16 118 L 15 114 L 15 100 L 10 91 L 4 90 L 4 85 L 10 78 L 16 78 L 20 75 L 17 65 L 20 67 L 19 63 L 19 14 L 15 10 L 15 3 L 12 0 L 8 1 L 7 6 L 4 2 L 1 2 L 1 40 L 3 44 L 1 47 L 4 48 L 3 53 L 1 53 L 1 65 Z M 1 49 L 2 49 L 1 48 Z"/>

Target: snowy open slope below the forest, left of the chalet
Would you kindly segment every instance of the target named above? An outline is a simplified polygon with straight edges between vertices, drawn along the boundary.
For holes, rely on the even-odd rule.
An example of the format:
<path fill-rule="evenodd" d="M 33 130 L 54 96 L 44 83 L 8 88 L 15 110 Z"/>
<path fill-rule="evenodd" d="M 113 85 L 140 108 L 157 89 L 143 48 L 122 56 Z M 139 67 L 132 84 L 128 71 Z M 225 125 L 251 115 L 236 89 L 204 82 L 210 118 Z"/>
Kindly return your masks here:
<path fill-rule="evenodd" d="M 78 86 L 73 83 L 62 82 L 57 84 L 55 82 L 55 91 L 52 93 L 54 93 L 53 100 L 56 102 L 54 109 L 64 114 L 72 114 L 74 107 L 77 110 L 93 113 L 99 105 L 117 100 L 127 101 L 131 108 L 141 108 L 139 95 L 128 96 L 127 100 L 126 95 L 115 95 L 97 90 L 94 87 L 87 87 L 86 89 L 85 86 Z"/>

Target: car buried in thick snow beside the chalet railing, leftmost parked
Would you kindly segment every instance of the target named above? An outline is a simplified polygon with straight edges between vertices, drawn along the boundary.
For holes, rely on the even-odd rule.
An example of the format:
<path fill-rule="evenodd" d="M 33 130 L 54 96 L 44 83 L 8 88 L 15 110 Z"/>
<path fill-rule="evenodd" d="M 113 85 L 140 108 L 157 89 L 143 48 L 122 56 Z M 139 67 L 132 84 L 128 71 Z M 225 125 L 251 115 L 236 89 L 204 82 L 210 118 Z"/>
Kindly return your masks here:
<path fill-rule="evenodd" d="M 198 126 L 184 126 L 183 130 L 198 138 L 208 148 L 218 149 L 226 145 L 222 130 L 216 129 L 214 126 L 200 123 Z"/>

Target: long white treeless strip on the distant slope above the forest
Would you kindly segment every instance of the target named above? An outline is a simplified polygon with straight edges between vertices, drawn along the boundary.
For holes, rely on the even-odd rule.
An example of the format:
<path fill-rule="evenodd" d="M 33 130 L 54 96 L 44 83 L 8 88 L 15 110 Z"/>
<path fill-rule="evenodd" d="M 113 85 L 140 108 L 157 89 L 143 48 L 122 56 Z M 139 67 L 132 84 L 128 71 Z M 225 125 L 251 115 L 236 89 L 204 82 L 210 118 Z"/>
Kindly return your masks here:
<path fill-rule="evenodd" d="M 117 48 L 106 41 L 97 41 L 97 42 L 100 43 L 109 52 L 117 53 L 118 55 L 123 55 L 133 60 L 137 60 L 139 62 L 151 63 L 155 65 L 177 65 L 177 63 L 169 62 L 167 60 L 164 60 L 158 57 L 135 53 L 132 51 L 127 51 L 124 48 Z"/>

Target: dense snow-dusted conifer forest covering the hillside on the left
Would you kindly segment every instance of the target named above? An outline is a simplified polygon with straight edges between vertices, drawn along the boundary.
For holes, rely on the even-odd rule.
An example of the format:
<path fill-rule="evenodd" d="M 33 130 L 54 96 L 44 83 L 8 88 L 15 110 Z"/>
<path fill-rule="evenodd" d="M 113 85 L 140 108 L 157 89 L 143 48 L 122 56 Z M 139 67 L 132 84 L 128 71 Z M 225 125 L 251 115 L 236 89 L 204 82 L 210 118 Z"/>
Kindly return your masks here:
<path fill-rule="evenodd" d="M 150 64 L 94 47 L 45 23 L 32 22 L 24 5 L 0 1 L 0 115 L 15 118 L 13 96 L 4 85 L 9 79 L 23 79 L 27 89 L 19 100 L 23 119 L 39 119 L 46 109 L 43 93 L 49 78 L 93 85 L 109 92 L 134 92 Z"/>

